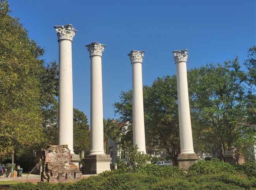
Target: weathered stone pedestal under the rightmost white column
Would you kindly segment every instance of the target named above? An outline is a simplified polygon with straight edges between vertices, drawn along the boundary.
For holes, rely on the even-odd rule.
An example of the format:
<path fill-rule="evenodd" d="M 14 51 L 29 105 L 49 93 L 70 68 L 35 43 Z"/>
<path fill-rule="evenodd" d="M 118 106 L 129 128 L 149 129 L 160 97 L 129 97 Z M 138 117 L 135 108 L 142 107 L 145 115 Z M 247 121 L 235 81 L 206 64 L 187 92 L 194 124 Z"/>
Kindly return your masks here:
<path fill-rule="evenodd" d="M 195 153 L 192 154 L 179 154 L 178 156 L 178 163 L 179 168 L 186 171 L 188 170 L 189 166 L 197 161 L 197 156 Z"/>

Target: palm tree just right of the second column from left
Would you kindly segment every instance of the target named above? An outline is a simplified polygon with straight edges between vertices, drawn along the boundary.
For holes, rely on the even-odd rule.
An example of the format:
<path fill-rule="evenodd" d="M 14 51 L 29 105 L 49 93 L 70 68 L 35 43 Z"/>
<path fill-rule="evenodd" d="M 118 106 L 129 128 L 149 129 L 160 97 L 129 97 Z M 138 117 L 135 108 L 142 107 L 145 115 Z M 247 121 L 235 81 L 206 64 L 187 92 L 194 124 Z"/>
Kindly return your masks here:
<path fill-rule="evenodd" d="M 106 145 L 108 143 L 108 139 L 111 138 L 113 140 L 118 139 L 120 130 L 117 123 L 113 122 L 110 118 L 103 119 L 103 131 L 104 131 L 104 153 L 106 154 Z"/>

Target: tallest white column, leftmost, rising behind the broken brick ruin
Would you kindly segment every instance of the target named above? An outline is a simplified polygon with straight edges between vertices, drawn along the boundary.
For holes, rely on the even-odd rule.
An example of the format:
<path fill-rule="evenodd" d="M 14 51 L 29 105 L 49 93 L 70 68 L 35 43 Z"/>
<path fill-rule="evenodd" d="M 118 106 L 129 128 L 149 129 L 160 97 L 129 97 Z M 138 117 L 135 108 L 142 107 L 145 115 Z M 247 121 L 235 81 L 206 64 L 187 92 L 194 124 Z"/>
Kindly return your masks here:
<path fill-rule="evenodd" d="M 59 145 L 73 149 L 72 24 L 54 26 L 59 42 Z"/>

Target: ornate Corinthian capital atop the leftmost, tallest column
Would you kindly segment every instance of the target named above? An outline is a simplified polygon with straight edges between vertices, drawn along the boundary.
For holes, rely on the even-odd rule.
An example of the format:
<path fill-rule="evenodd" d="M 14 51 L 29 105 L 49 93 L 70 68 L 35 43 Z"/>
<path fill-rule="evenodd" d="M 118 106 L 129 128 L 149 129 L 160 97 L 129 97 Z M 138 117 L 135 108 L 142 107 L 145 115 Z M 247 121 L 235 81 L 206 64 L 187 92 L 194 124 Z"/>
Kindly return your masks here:
<path fill-rule="evenodd" d="M 58 40 L 67 39 L 72 41 L 73 37 L 75 36 L 75 32 L 77 32 L 77 30 L 73 28 L 72 24 L 54 26 L 54 28 L 56 28 Z"/>

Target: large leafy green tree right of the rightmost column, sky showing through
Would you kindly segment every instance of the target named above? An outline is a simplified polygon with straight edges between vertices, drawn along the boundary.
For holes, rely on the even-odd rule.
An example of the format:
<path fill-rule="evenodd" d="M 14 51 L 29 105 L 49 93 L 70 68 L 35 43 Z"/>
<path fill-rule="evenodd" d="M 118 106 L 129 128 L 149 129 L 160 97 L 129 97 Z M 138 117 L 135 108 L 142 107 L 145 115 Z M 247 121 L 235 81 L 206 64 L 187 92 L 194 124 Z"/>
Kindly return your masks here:
<path fill-rule="evenodd" d="M 204 148 L 214 146 L 224 160 L 248 129 L 246 73 L 236 58 L 193 69 L 188 76 L 194 140 Z"/>

